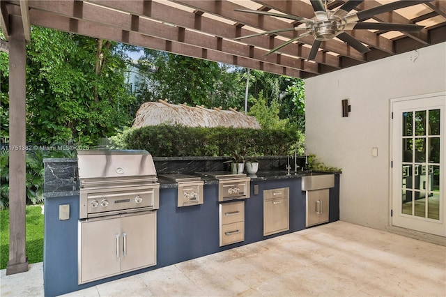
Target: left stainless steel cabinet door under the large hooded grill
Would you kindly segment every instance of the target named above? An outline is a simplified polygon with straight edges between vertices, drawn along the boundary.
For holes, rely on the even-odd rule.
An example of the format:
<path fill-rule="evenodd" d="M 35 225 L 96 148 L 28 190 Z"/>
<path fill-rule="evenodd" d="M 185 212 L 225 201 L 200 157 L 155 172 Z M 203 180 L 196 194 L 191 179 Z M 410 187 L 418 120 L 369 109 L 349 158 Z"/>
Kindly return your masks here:
<path fill-rule="evenodd" d="M 121 271 L 121 219 L 80 223 L 79 283 Z"/>

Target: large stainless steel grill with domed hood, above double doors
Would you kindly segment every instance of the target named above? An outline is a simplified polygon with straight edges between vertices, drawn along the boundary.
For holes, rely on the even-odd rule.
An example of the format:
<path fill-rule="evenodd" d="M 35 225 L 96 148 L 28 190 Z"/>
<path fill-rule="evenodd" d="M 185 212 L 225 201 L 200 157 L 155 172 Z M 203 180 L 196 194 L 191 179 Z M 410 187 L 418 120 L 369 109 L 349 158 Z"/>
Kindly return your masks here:
<path fill-rule="evenodd" d="M 79 218 L 159 208 L 160 183 L 148 151 L 77 151 Z"/>

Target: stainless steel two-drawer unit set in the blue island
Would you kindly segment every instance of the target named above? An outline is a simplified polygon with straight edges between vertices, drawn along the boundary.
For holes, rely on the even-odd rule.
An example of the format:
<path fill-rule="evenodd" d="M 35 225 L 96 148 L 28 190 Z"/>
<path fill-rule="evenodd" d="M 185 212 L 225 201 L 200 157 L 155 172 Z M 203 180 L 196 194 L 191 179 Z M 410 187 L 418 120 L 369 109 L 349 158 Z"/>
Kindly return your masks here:
<path fill-rule="evenodd" d="M 245 201 L 220 204 L 220 246 L 245 240 Z"/>

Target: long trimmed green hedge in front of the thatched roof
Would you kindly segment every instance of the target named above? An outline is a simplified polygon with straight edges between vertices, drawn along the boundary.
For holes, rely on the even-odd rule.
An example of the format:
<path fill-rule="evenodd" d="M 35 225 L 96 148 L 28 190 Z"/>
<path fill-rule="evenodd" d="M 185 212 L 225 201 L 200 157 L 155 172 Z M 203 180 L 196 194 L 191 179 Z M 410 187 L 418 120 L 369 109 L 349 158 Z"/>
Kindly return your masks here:
<path fill-rule="evenodd" d="M 124 130 L 112 137 L 115 148 L 144 149 L 156 157 L 289 155 L 303 142 L 292 129 L 194 128 L 155 125 Z"/>

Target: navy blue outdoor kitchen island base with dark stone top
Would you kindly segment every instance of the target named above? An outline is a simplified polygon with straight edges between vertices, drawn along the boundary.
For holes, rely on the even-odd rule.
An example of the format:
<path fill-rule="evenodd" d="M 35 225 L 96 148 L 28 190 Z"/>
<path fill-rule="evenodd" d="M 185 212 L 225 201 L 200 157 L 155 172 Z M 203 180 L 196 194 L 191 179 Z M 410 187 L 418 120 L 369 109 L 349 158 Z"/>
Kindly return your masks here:
<path fill-rule="evenodd" d="M 76 159 L 45 160 L 45 296 L 66 294 L 306 228 L 306 192 L 302 191 L 301 184 L 302 176 L 311 173 L 287 175 L 285 171 L 269 171 L 249 176 L 249 198 L 239 200 L 244 202 L 244 240 L 224 246 L 219 242 L 219 208 L 232 201 L 218 201 L 218 181 L 201 177 L 204 181 L 203 204 L 178 207 L 178 185 L 159 178 L 155 266 L 78 284 L 79 188 L 76 172 Z M 289 229 L 263 236 L 263 195 L 275 189 L 288 189 Z M 329 193 L 329 222 L 334 222 L 339 220 L 339 174 L 334 174 L 334 187 Z M 67 208 L 69 215 L 63 213 Z"/>

